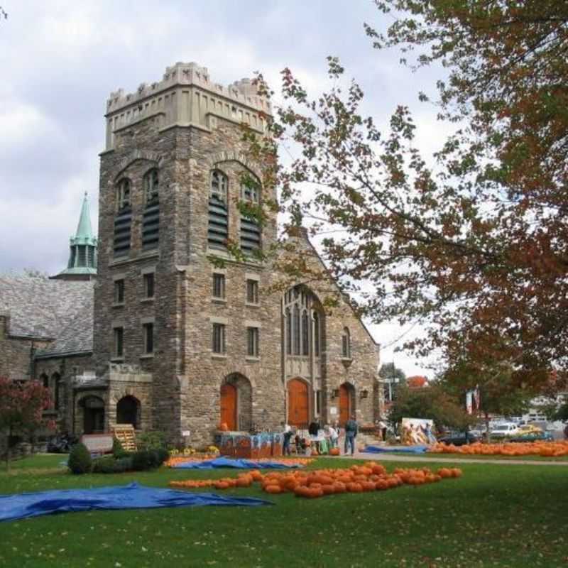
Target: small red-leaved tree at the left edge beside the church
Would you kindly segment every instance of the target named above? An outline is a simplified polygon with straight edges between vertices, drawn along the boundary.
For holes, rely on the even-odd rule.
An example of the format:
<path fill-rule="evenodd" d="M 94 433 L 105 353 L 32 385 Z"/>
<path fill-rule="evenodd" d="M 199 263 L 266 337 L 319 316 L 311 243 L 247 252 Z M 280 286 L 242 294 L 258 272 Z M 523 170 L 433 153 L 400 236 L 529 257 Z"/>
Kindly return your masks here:
<path fill-rule="evenodd" d="M 6 469 L 10 467 L 13 435 L 49 427 L 43 410 L 49 408 L 50 393 L 39 381 L 11 381 L 0 377 L 0 433 L 6 436 Z"/>

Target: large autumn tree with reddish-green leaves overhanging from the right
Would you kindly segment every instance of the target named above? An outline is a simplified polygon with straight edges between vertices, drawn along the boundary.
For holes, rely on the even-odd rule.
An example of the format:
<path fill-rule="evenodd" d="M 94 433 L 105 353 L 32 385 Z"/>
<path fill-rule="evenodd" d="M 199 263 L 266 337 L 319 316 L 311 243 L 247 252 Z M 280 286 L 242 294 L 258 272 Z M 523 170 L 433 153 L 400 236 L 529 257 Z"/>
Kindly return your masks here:
<path fill-rule="evenodd" d="M 535 381 L 568 360 L 568 4 L 552 0 L 384 0 L 377 49 L 403 65 L 441 63 L 438 105 L 455 133 L 435 159 L 415 147 L 405 107 L 388 129 L 361 114 L 364 93 L 329 58 L 332 86 L 310 98 L 282 73 L 283 104 L 253 141 L 264 182 L 281 190 L 293 230 L 302 216 L 327 269 L 373 322 L 420 322 L 405 346 L 448 362 L 508 362 Z M 394 55 L 394 54 L 393 54 Z M 270 94 L 258 78 L 261 92 Z M 278 163 L 285 145 L 292 160 Z M 288 266 L 285 266 L 288 265 Z"/>

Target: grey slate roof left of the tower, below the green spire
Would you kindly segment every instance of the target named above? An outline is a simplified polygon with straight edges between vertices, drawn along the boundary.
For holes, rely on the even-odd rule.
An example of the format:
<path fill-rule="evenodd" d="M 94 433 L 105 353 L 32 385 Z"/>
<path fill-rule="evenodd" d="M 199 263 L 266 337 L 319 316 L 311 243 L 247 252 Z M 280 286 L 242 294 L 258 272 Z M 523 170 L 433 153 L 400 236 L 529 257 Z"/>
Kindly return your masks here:
<path fill-rule="evenodd" d="M 41 355 L 92 351 L 94 280 L 0 275 L 0 312 L 10 335 L 53 339 Z"/>

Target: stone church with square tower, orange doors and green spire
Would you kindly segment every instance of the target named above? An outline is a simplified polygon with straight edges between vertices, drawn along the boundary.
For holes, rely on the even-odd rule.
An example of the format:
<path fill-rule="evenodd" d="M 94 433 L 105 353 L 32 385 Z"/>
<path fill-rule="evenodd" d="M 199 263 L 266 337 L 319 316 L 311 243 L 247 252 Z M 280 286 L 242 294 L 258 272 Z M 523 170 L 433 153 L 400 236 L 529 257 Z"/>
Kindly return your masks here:
<path fill-rule="evenodd" d="M 199 445 L 219 422 L 279 430 L 381 414 L 378 344 L 348 302 L 322 305 L 337 286 L 271 291 L 280 277 L 254 255 L 275 243 L 276 214 L 261 226 L 238 202 L 276 196 L 245 158 L 241 124 L 262 135 L 270 112 L 250 80 L 223 87 L 195 63 L 111 93 L 98 241 L 85 197 L 65 271 L 0 276 L 0 376 L 43 381 L 62 430 L 129 422 Z M 291 238 L 322 266 L 305 229 Z"/>

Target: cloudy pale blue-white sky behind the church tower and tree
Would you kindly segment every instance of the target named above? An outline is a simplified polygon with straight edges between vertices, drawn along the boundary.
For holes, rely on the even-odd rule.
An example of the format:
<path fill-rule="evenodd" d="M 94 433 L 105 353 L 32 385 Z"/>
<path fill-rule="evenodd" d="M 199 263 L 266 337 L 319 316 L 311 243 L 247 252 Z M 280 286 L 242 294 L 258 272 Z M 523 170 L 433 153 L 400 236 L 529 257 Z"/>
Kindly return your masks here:
<path fill-rule="evenodd" d="M 408 104 L 426 152 L 442 143 L 435 109 L 417 102 L 435 77 L 411 75 L 397 53 L 377 53 L 363 31 L 388 24 L 370 0 L 0 0 L 0 273 L 65 267 L 82 194 L 97 226 L 98 153 L 111 91 L 160 80 L 176 61 L 196 61 L 229 84 L 261 70 L 271 84 L 290 67 L 310 89 L 327 87 L 338 55 L 382 121 Z M 381 120 L 382 119 L 382 120 Z M 424 361 L 393 354 L 417 332 L 372 327 L 383 361 L 427 374 Z"/>

